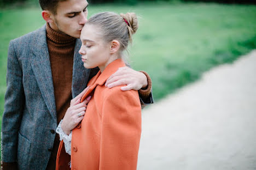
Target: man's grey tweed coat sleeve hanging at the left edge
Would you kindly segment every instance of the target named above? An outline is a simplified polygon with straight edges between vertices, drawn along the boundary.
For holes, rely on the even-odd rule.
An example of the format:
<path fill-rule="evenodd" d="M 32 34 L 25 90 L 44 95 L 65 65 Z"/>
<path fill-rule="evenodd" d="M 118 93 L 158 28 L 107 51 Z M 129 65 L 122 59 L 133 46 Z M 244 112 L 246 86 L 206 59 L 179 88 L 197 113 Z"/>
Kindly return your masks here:
<path fill-rule="evenodd" d="M 2 160 L 3 162 L 15 162 L 25 95 L 22 85 L 22 69 L 15 53 L 13 41 L 10 41 L 9 44 L 6 77 L 7 90 L 2 119 Z"/>

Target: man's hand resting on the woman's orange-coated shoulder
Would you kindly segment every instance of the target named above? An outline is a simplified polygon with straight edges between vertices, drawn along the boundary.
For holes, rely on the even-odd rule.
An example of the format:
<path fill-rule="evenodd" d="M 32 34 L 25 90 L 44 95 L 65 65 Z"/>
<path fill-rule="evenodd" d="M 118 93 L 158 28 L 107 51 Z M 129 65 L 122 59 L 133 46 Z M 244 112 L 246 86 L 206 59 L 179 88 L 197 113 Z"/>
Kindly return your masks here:
<path fill-rule="evenodd" d="M 147 76 L 143 72 L 135 71 L 127 66 L 119 68 L 106 81 L 105 86 L 112 88 L 115 86 L 126 85 L 121 90 L 139 90 L 148 86 Z"/>

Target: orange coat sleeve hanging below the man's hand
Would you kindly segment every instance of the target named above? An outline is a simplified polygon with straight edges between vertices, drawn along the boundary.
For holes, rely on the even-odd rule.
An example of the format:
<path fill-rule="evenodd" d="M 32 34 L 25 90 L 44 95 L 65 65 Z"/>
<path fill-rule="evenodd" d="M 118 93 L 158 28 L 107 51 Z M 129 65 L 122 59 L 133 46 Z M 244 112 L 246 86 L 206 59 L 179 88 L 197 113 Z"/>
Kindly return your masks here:
<path fill-rule="evenodd" d="M 103 100 L 100 169 L 136 169 L 141 138 L 138 92 L 110 90 Z"/>

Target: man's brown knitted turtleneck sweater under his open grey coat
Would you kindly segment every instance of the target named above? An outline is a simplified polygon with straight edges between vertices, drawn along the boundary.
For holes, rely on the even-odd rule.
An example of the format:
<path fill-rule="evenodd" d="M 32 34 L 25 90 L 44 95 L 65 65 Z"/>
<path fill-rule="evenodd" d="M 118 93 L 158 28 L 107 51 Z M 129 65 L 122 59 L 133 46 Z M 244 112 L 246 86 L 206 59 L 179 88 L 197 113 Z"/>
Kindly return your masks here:
<path fill-rule="evenodd" d="M 46 25 L 46 38 L 51 62 L 51 74 L 53 75 L 57 123 L 59 124 L 65 116 L 72 99 L 72 70 L 76 38 L 57 33 L 51 29 L 49 24 Z M 47 170 L 55 169 L 59 143 L 59 135 L 56 135 Z"/>

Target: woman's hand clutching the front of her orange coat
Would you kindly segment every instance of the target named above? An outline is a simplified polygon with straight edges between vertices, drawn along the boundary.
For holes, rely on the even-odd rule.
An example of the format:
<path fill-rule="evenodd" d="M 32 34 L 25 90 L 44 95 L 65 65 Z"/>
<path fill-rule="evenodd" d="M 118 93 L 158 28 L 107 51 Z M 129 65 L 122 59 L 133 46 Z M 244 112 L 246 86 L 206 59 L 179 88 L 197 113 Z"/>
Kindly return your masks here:
<path fill-rule="evenodd" d="M 82 93 L 76 96 L 70 102 L 70 107 L 67 109 L 65 116 L 61 123 L 61 129 L 67 135 L 81 122 L 84 118 L 85 110 L 88 102 L 91 99 L 89 96 L 86 100 L 80 103 L 82 96 L 87 92 L 89 87 L 85 88 Z"/>

